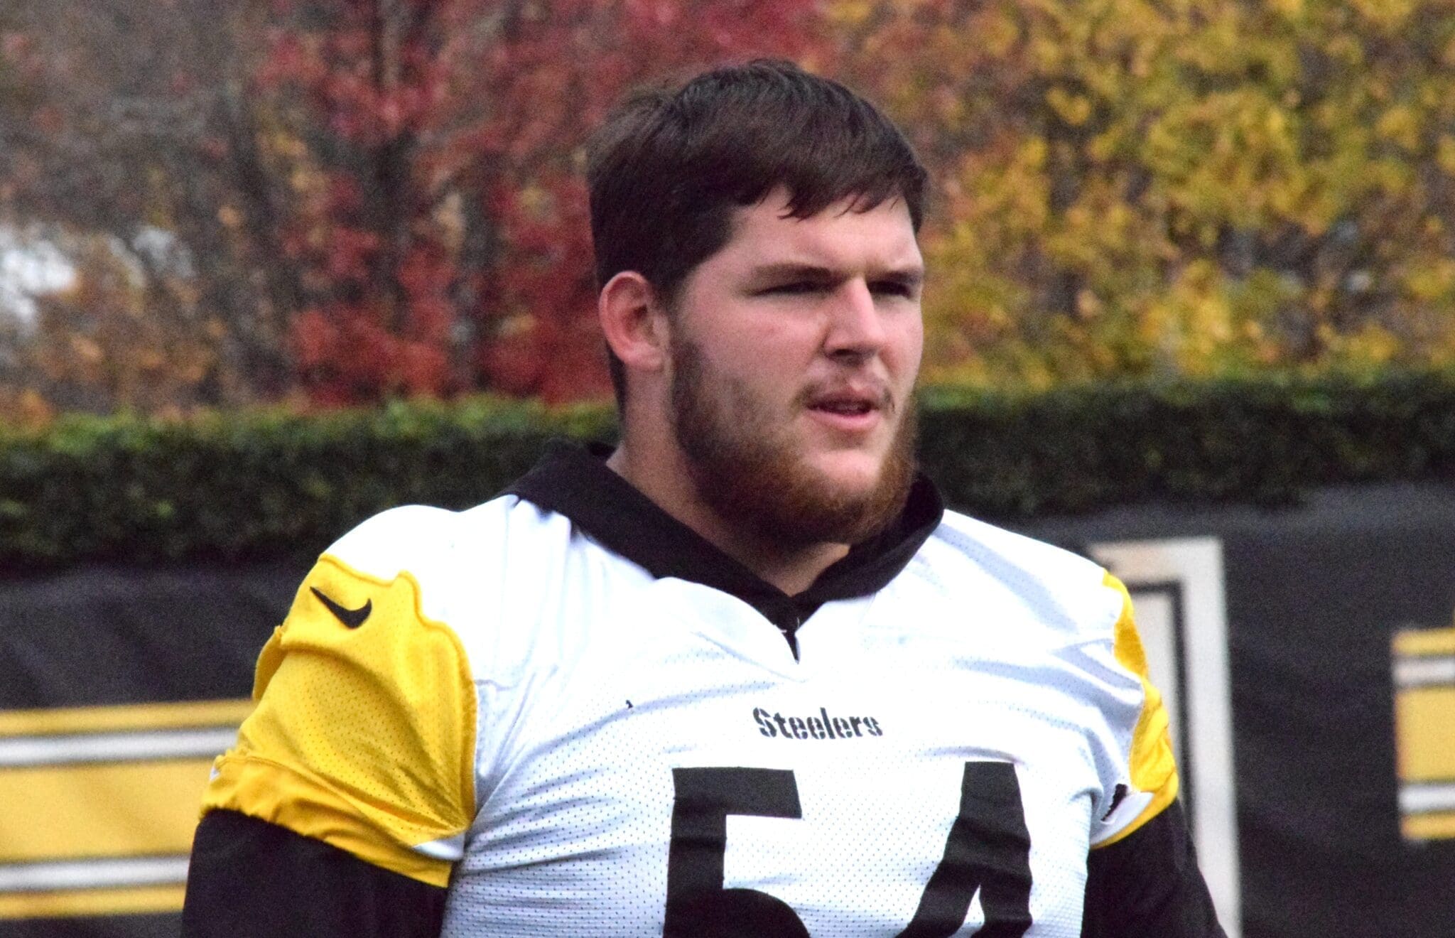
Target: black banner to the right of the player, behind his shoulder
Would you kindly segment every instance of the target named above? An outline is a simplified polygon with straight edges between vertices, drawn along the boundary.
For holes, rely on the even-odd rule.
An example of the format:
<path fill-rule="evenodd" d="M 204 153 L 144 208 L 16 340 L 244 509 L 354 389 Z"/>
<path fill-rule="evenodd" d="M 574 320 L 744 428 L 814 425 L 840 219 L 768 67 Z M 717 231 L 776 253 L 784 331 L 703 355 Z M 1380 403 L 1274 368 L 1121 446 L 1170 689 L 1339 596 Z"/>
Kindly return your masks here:
<path fill-rule="evenodd" d="M 1020 528 L 1103 560 L 1128 544 L 1219 545 L 1241 907 L 1229 935 L 1455 938 L 1455 487 Z M 1177 692 L 1176 675 L 1154 679 Z M 1197 715 L 1179 721 L 1181 750 Z M 1199 763 L 1193 746 L 1196 820 Z M 1205 868 L 1218 846 L 1199 838 Z"/>

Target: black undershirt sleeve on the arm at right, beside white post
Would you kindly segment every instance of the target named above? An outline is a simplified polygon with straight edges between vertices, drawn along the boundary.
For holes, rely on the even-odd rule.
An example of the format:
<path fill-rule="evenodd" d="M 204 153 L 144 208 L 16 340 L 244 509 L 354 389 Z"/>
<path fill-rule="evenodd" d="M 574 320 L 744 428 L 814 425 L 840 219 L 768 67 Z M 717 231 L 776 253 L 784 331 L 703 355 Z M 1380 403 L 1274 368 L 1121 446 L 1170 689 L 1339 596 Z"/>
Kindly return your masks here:
<path fill-rule="evenodd" d="M 1081 938 L 1227 938 L 1179 801 L 1090 852 Z"/>

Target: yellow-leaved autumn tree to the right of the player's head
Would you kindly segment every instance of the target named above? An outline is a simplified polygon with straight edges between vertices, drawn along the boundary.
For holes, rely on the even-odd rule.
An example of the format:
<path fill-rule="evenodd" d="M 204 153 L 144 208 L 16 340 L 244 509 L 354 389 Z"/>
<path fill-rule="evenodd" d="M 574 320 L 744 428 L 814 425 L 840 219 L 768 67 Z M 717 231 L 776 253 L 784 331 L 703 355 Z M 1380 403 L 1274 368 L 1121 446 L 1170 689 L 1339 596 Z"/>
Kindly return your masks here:
<path fill-rule="evenodd" d="M 1442 0 L 844 1 L 941 182 L 931 374 L 1455 356 Z"/>

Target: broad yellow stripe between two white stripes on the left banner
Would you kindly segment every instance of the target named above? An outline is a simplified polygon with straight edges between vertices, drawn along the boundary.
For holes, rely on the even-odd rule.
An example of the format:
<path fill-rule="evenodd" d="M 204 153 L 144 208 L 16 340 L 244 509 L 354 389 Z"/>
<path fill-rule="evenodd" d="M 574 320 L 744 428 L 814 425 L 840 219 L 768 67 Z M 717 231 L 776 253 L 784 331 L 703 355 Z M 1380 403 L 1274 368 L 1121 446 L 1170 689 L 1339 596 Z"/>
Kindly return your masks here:
<path fill-rule="evenodd" d="M 0 862 L 188 854 L 211 759 L 0 771 Z"/>

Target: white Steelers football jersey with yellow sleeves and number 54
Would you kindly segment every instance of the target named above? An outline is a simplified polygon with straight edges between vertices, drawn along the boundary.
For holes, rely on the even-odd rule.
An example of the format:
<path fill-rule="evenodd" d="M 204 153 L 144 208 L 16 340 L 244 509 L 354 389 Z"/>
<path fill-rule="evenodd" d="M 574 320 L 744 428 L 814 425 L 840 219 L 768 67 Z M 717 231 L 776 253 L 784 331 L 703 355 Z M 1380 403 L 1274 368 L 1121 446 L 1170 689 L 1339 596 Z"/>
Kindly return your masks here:
<path fill-rule="evenodd" d="M 805 601 L 594 457 L 533 476 L 320 558 L 207 807 L 447 884 L 451 937 L 1077 938 L 1176 795 L 1088 560 L 920 486 Z"/>

